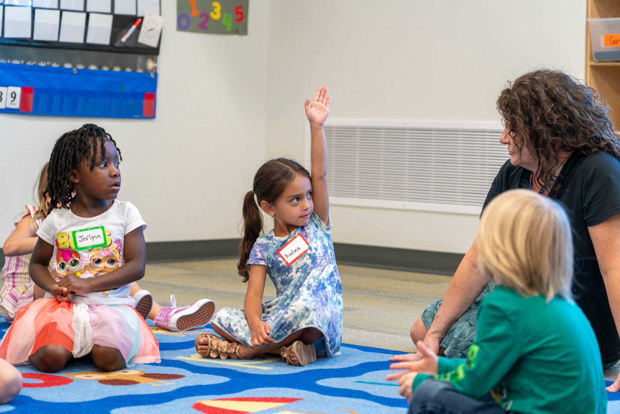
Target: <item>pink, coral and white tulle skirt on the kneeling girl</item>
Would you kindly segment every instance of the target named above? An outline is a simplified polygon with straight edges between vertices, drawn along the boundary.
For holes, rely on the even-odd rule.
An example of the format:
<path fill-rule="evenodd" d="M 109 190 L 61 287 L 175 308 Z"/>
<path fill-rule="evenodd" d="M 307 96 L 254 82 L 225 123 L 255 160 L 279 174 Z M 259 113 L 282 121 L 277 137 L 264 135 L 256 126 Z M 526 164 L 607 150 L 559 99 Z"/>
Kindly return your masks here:
<path fill-rule="evenodd" d="M 128 305 L 85 305 L 37 299 L 20 308 L 0 343 L 0 358 L 13 365 L 46 345 L 62 346 L 79 358 L 93 345 L 120 351 L 128 367 L 160 362 L 159 343 L 144 319 Z"/>

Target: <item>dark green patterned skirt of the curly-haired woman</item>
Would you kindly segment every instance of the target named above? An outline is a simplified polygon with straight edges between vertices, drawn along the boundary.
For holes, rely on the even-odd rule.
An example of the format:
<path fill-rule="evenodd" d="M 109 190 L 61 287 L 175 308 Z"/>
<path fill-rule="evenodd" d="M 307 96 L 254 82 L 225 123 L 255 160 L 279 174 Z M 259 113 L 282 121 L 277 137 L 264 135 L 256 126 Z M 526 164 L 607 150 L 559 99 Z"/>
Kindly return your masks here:
<path fill-rule="evenodd" d="M 493 289 L 495 289 L 495 283 L 490 282 L 487 287 L 482 290 L 476 302 L 474 302 L 474 304 L 454 322 L 454 325 L 449 328 L 445 338 L 441 341 L 441 346 L 446 348 L 446 357 L 467 358 L 469 346 L 476 340 L 480 302 L 482 302 L 482 299 Z M 433 320 L 435 320 L 435 315 L 437 315 L 437 311 L 442 302 L 443 299 L 433 302 L 422 312 L 422 322 L 424 322 L 427 329 L 430 328 Z"/>

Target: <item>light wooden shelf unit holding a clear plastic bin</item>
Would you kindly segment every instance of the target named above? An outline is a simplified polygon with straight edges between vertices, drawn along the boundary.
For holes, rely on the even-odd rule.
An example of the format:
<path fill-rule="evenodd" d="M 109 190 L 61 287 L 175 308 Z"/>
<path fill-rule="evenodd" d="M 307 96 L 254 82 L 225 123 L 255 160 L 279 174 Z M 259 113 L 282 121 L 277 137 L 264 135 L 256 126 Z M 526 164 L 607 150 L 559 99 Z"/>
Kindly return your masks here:
<path fill-rule="evenodd" d="M 620 1 L 588 0 L 588 19 L 604 17 L 620 17 Z M 620 61 L 594 61 L 589 23 L 586 30 L 585 80 L 607 101 L 614 126 L 620 130 Z"/>

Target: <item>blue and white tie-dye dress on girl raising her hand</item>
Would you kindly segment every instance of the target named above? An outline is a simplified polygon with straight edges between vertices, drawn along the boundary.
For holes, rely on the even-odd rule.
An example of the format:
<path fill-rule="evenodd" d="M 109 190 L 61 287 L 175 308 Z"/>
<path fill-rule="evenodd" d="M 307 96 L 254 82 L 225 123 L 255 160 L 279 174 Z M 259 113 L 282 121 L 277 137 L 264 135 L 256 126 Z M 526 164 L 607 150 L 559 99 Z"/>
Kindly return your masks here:
<path fill-rule="evenodd" d="M 314 327 L 323 333 L 327 356 L 333 356 L 342 343 L 342 284 L 336 268 L 330 228 L 312 212 L 308 225 L 298 227 L 285 237 L 273 230 L 260 236 L 247 263 L 267 266 L 277 298 L 263 304 L 262 320 L 271 327 L 269 334 L 280 342 L 300 329 Z M 308 251 L 288 266 L 278 255 L 294 236 L 301 233 L 309 243 Z M 252 346 L 252 331 L 242 309 L 222 308 L 211 323 Z"/>

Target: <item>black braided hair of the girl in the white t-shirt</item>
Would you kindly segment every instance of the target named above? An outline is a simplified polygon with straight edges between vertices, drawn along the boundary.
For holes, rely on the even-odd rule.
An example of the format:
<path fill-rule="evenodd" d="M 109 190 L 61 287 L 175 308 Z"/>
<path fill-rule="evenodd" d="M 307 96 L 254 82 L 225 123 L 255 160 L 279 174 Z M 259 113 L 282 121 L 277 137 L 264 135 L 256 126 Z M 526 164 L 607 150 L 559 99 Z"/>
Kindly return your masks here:
<path fill-rule="evenodd" d="M 108 141 L 116 146 L 112 135 L 95 124 L 84 124 L 79 129 L 63 133 L 56 140 L 47 168 L 47 194 L 51 199 L 51 209 L 55 209 L 59 204 L 61 209 L 69 208 L 69 203 L 75 198 L 71 196 L 74 191 L 71 182 L 73 169 L 80 168 L 82 160 L 91 155 L 92 149 L 92 159 L 89 163 L 92 171 L 97 162 L 98 148 L 101 148 L 101 156 L 105 159 L 105 143 Z M 118 158 L 123 160 L 118 146 L 117 151 Z"/>

